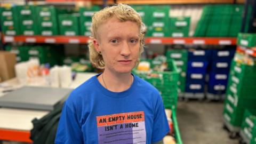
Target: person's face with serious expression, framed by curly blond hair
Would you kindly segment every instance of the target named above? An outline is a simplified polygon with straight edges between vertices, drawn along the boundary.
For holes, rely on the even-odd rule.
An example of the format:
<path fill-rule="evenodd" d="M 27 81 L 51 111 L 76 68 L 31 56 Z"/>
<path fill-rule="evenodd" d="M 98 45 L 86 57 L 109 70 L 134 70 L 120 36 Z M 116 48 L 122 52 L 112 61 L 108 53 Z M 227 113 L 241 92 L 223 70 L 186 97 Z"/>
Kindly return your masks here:
<path fill-rule="evenodd" d="M 110 18 L 98 29 L 95 49 L 102 53 L 105 70 L 130 73 L 135 67 L 140 50 L 140 30 L 135 22 L 120 22 Z"/>

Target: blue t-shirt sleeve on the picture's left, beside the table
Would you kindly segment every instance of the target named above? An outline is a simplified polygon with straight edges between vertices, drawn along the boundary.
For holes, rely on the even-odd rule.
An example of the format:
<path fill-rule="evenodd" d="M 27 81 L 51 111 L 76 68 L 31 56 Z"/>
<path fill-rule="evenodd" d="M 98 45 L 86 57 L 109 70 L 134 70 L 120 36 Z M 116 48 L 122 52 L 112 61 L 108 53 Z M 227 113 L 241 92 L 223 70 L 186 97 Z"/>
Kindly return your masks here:
<path fill-rule="evenodd" d="M 83 143 L 83 134 L 76 113 L 66 103 L 62 109 L 55 143 Z"/>

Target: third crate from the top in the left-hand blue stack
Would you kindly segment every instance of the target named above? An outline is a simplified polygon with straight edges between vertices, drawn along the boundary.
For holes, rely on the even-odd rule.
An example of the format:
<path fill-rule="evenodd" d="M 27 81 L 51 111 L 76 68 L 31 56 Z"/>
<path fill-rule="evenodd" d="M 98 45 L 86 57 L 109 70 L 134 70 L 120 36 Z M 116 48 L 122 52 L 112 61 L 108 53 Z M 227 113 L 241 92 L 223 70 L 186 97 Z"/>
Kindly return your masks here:
<path fill-rule="evenodd" d="M 187 71 L 187 83 L 203 83 L 205 82 L 205 73 L 190 73 Z"/>

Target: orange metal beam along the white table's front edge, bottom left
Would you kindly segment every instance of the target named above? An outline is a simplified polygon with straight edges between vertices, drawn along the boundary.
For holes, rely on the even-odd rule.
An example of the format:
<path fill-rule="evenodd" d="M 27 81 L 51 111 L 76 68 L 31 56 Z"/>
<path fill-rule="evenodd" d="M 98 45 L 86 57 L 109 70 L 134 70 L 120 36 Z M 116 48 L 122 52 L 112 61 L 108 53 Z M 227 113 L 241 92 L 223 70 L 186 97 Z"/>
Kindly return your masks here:
<path fill-rule="evenodd" d="M 30 137 L 29 131 L 0 129 L 0 140 L 32 143 L 33 141 L 30 140 L 29 137 Z"/>

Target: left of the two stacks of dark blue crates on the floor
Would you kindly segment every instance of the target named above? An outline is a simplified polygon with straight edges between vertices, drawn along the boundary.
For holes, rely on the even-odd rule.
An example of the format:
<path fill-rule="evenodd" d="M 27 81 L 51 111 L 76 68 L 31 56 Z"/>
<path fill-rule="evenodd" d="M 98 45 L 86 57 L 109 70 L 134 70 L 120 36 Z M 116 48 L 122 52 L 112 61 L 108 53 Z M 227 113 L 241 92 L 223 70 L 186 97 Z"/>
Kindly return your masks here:
<path fill-rule="evenodd" d="M 186 93 L 204 93 L 210 50 L 189 50 Z"/>

